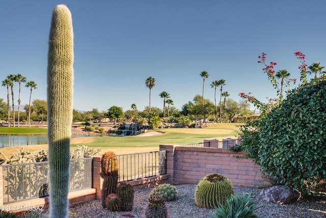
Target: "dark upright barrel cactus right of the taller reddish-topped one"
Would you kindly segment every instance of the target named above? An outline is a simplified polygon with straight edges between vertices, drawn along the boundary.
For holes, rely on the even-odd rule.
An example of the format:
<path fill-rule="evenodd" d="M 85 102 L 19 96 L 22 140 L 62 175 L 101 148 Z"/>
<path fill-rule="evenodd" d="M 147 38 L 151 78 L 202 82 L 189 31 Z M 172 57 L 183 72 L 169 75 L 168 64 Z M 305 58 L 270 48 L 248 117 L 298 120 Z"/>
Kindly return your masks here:
<path fill-rule="evenodd" d="M 133 205 L 133 189 L 131 185 L 126 181 L 121 182 L 117 195 L 121 198 L 120 211 L 131 211 Z"/>

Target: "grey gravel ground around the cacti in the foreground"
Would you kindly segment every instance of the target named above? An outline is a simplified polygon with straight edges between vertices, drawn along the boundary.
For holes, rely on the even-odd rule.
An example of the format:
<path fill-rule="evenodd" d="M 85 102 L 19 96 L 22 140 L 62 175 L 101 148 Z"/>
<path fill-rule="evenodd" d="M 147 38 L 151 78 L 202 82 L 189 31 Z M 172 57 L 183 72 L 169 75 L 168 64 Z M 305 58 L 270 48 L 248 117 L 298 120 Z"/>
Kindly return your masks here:
<path fill-rule="evenodd" d="M 196 184 L 176 185 L 178 199 L 174 202 L 167 202 L 171 218 L 207 218 L 214 215 L 213 209 L 204 209 L 195 204 Z M 258 199 L 261 189 L 248 187 L 235 187 L 235 193 L 239 195 L 251 195 L 252 201 L 258 209 L 255 214 L 262 218 L 319 218 L 326 217 L 326 196 L 310 197 L 288 205 L 277 205 L 269 202 L 261 202 Z M 143 215 L 144 207 L 152 188 L 140 188 L 134 192 L 133 209 L 130 213 L 140 218 Z M 70 212 L 76 214 L 72 217 L 126 217 L 125 212 L 111 212 L 102 209 L 100 200 L 92 200 L 77 207 L 70 208 Z"/>

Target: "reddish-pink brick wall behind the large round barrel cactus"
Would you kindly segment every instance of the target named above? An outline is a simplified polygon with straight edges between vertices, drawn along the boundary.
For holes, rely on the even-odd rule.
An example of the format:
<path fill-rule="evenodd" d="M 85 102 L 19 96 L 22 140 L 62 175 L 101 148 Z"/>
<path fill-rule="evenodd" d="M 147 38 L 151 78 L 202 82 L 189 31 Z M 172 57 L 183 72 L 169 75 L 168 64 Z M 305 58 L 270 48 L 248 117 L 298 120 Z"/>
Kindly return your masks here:
<path fill-rule="evenodd" d="M 216 142 L 216 141 L 215 141 Z M 169 183 L 197 184 L 211 173 L 223 174 L 234 186 L 264 187 L 269 185 L 262 179 L 260 166 L 247 159 L 242 152 L 228 149 L 181 147 L 162 144 L 167 150 Z"/>

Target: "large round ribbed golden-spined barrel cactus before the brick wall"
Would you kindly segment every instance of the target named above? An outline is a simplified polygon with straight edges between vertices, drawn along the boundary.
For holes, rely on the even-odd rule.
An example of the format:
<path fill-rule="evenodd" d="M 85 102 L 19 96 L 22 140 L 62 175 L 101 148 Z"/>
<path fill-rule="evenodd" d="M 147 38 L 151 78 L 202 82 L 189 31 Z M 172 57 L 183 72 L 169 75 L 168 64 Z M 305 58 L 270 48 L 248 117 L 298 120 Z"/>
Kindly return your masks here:
<path fill-rule="evenodd" d="M 225 205 L 234 194 L 232 183 L 221 174 L 209 174 L 202 178 L 195 191 L 196 205 L 203 208 L 217 208 Z"/>

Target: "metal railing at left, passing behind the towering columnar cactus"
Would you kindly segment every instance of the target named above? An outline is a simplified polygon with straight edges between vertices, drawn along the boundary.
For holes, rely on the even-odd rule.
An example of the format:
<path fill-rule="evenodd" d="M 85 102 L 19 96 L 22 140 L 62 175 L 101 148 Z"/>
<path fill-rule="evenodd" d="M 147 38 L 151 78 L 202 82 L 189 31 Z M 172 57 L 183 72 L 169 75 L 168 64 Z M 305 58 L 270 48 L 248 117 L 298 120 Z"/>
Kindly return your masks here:
<path fill-rule="evenodd" d="M 69 191 L 92 187 L 93 158 L 71 159 Z M 48 196 L 48 161 L 4 165 L 4 204 Z"/>

